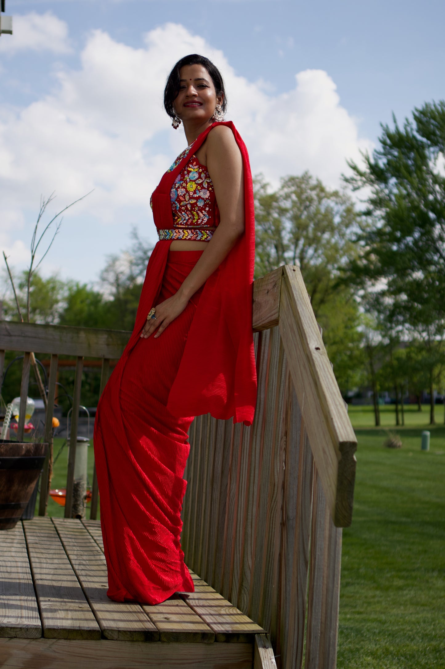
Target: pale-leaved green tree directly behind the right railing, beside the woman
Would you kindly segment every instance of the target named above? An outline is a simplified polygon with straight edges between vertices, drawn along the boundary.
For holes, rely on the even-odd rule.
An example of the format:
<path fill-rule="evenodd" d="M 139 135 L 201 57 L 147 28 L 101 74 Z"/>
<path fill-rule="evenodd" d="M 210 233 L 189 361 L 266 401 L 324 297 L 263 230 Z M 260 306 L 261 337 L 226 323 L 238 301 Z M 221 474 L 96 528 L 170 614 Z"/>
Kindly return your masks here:
<path fill-rule="evenodd" d="M 287 263 L 300 266 L 338 383 L 346 392 L 357 382 L 362 355 L 354 291 L 339 282 L 340 268 L 356 254 L 354 205 L 346 193 L 326 188 L 308 172 L 282 179 L 276 191 L 259 175 L 254 195 L 256 276 Z"/>

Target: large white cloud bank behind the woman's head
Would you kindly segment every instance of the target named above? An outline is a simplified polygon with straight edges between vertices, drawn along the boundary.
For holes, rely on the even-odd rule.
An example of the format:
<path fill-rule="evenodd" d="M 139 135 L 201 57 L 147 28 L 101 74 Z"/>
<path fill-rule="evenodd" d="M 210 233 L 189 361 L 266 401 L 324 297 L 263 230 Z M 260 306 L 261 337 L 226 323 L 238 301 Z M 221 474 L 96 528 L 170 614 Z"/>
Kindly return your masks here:
<path fill-rule="evenodd" d="M 150 31 L 139 49 L 96 30 L 87 37 L 79 69 L 59 72 L 50 95 L 15 112 L 0 108 L 0 197 L 12 217 L 16 212 L 17 220 L 29 220 L 24 238 L 33 224 L 29 211 L 37 209 L 42 193 L 55 190 L 61 209 L 93 188 L 67 215 L 91 220 L 97 248 L 104 234 L 100 223 L 136 223 L 145 234 L 150 193 L 186 143 L 165 115 L 163 86 L 172 64 L 193 52 L 221 68 L 228 118 L 246 141 L 252 171 L 272 183 L 308 169 L 336 186 L 345 159 L 358 159 L 359 149 L 370 147 L 359 139 L 357 122 L 340 105 L 326 72 L 300 72 L 292 90 L 275 94 L 264 82 L 236 74 L 221 51 L 181 25 Z M 116 251 L 125 247 L 125 240 L 116 245 Z M 101 262 L 97 254 L 95 272 Z"/>

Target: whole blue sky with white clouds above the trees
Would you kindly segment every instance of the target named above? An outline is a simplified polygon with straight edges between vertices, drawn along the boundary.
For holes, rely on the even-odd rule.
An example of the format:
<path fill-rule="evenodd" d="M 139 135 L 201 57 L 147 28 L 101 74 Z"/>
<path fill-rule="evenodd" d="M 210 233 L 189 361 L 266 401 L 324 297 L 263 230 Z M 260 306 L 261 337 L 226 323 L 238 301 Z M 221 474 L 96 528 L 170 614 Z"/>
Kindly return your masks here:
<path fill-rule="evenodd" d="M 185 147 L 163 112 L 174 62 L 226 80 L 254 173 L 339 185 L 380 122 L 445 96 L 443 0 L 6 0 L 0 37 L 0 251 L 29 257 L 41 195 L 65 215 L 44 273 L 91 282 L 129 231 L 155 241 L 149 196 Z M 57 207 L 57 209 L 56 209 Z"/>

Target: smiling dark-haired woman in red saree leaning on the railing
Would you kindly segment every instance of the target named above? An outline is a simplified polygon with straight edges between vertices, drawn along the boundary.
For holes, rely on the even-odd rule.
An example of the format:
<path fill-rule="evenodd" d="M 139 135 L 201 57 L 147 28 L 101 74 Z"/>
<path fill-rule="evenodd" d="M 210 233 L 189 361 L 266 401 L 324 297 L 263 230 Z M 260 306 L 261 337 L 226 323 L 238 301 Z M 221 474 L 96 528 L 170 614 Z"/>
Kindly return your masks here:
<path fill-rule="evenodd" d="M 188 147 L 151 196 L 159 242 L 94 429 L 107 594 L 148 604 L 193 592 L 179 541 L 193 417 L 250 425 L 256 402 L 246 147 L 221 122 L 224 84 L 207 58 L 174 66 L 164 106 Z"/>

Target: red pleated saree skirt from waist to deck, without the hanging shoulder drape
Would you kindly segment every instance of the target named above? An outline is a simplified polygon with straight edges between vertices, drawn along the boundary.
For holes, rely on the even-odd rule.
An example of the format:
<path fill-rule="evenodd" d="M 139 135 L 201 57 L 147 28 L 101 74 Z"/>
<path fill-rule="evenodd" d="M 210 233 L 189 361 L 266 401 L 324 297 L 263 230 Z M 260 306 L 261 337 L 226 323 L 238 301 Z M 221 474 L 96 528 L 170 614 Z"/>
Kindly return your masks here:
<path fill-rule="evenodd" d="M 158 276 L 158 302 L 177 292 L 201 253 L 169 252 Z M 97 407 L 94 451 L 107 594 L 115 601 L 156 604 L 175 591 L 193 592 L 179 541 L 193 416 L 173 417 L 166 405 L 201 292 L 160 337 L 139 337 Z"/>

